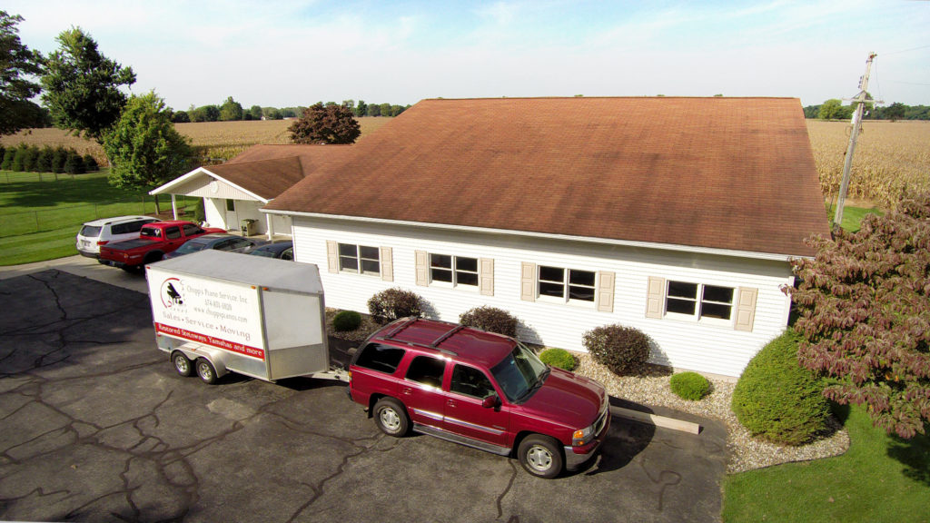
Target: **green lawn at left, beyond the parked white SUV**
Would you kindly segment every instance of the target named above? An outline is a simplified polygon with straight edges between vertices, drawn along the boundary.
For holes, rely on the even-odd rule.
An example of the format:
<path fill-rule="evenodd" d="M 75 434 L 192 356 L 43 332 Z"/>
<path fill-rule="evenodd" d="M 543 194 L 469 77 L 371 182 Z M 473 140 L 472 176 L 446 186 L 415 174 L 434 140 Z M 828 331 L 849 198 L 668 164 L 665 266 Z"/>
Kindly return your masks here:
<path fill-rule="evenodd" d="M 81 223 L 155 212 L 152 196 L 117 189 L 107 174 L 59 174 L 56 181 L 52 173 L 0 171 L 0 265 L 72 256 Z M 161 208 L 171 208 L 168 198 L 162 198 Z"/>

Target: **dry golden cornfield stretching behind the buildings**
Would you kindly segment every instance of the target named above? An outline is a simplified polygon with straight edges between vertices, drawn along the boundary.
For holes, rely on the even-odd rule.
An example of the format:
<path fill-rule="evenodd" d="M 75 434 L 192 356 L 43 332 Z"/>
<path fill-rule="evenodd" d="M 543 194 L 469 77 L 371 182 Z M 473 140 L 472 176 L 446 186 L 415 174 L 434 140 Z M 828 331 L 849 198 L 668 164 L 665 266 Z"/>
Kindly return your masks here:
<path fill-rule="evenodd" d="M 391 118 L 359 118 L 362 139 L 391 121 Z M 289 120 L 250 122 L 203 122 L 177 124 L 204 163 L 217 163 L 242 153 L 257 143 L 287 143 Z M 849 141 L 849 124 L 807 120 L 807 130 L 820 176 L 820 188 L 827 198 L 835 198 L 843 174 L 844 155 Z M 105 166 L 103 149 L 95 141 L 70 136 L 57 128 L 29 129 L 3 137 L 5 146 L 20 142 L 73 147 L 79 154 L 93 154 Z M 850 176 L 850 198 L 865 205 L 895 208 L 906 192 L 930 191 L 930 122 L 866 121 L 859 134 Z"/>

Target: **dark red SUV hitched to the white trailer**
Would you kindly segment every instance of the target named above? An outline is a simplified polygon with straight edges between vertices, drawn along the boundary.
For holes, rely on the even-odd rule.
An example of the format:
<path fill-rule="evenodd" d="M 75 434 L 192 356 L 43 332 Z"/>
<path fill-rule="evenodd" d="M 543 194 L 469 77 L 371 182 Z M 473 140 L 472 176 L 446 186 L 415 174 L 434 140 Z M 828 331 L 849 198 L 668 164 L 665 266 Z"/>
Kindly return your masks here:
<path fill-rule="evenodd" d="M 379 329 L 353 355 L 352 400 L 381 431 L 410 429 L 512 456 L 555 477 L 587 462 L 610 425 L 604 386 L 539 361 L 523 343 L 422 318 Z"/>

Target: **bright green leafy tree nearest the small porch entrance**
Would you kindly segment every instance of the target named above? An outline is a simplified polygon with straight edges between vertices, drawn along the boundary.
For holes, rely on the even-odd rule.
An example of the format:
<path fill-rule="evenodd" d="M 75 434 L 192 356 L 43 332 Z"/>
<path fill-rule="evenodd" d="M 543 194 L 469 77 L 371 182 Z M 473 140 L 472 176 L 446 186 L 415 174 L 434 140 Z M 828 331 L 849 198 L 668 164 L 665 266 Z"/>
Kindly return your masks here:
<path fill-rule="evenodd" d="M 149 190 L 188 169 L 191 147 L 175 130 L 165 107 L 154 91 L 133 96 L 126 103 L 123 114 L 103 138 L 110 158 L 110 183 Z"/>

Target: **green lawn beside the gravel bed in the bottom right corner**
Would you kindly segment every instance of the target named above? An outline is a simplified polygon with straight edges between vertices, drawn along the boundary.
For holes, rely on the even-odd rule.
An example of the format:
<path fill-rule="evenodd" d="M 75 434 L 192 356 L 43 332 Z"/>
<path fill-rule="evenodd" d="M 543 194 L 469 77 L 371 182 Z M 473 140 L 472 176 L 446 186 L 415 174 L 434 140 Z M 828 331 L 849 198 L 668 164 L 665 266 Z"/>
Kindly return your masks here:
<path fill-rule="evenodd" d="M 930 437 L 887 436 L 844 410 L 844 455 L 725 477 L 724 521 L 930 522 Z"/>

